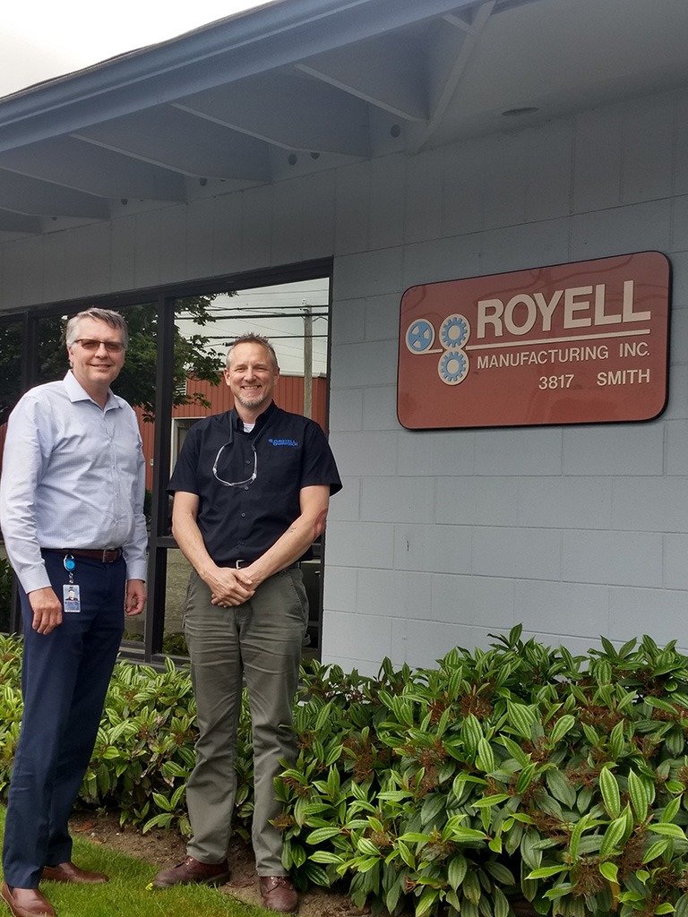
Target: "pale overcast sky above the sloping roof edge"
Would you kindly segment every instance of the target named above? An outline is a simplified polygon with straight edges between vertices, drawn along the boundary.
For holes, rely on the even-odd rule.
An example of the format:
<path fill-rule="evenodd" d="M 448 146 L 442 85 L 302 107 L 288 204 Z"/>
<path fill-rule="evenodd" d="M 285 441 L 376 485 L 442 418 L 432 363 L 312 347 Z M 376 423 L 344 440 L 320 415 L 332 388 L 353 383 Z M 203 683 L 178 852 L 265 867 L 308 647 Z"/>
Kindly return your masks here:
<path fill-rule="evenodd" d="M 275 0 L 271 0 L 275 2 Z M 0 0 L 0 97 L 266 0 Z"/>

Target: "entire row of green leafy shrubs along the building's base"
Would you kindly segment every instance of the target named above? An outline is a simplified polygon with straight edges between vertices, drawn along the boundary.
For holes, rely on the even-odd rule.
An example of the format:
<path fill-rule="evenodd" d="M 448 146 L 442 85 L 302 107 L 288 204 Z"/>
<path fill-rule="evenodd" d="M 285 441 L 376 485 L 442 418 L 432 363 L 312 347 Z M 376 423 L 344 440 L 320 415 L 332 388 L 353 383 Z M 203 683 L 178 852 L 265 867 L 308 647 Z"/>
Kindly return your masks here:
<path fill-rule="evenodd" d="M 573 657 L 524 642 L 452 649 L 378 678 L 309 663 L 299 753 L 276 781 L 296 884 L 344 884 L 393 914 L 688 917 L 688 658 L 644 637 Z M 0 644 L 0 790 L 17 741 L 20 646 Z M 120 664 L 83 800 L 188 832 L 188 675 Z M 237 829 L 253 809 L 248 704 Z"/>

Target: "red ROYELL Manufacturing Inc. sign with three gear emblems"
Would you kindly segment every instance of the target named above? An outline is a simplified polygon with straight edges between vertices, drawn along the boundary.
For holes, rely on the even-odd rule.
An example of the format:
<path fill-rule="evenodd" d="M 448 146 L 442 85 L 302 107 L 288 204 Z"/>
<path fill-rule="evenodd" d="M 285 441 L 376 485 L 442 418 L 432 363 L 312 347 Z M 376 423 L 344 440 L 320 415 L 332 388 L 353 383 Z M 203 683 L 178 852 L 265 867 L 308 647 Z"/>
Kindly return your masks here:
<path fill-rule="evenodd" d="M 651 420 L 667 401 L 658 251 L 411 287 L 397 414 L 411 430 Z"/>

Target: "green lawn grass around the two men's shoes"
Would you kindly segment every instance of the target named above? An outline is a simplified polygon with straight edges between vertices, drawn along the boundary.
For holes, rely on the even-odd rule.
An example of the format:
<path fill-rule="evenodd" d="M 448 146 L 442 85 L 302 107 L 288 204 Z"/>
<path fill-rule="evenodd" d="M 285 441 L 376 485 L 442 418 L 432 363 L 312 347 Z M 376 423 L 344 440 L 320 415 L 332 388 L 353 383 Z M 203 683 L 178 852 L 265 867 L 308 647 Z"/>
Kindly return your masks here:
<path fill-rule="evenodd" d="M 5 826 L 5 808 L 0 808 L 0 830 Z M 42 882 L 41 890 L 59 917 L 265 917 L 262 908 L 250 907 L 229 895 L 205 886 L 177 886 L 148 889 L 157 867 L 107 847 L 74 838 L 73 860 L 84 869 L 104 872 L 105 885 L 67 885 Z M 2 903 L 2 902 L 0 902 Z"/>

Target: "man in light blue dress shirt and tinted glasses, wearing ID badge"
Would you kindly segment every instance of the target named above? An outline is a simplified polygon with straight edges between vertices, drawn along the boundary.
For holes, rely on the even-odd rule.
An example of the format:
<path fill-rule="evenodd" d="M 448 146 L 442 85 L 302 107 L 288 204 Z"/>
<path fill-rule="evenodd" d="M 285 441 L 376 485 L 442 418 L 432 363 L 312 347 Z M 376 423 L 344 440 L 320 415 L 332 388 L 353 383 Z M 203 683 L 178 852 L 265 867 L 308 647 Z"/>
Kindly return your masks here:
<path fill-rule="evenodd" d="M 144 459 L 136 415 L 110 391 L 121 315 L 66 329 L 70 371 L 17 403 L 7 425 L 0 525 L 19 580 L 24 714 L 7 803 L 0 895 L 15 917 L 53 917 L 41 878 L 96 883 L 72 863 L 68 818 L 93 752 L 124 614 L 146 600 Z"/>

